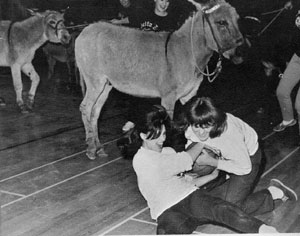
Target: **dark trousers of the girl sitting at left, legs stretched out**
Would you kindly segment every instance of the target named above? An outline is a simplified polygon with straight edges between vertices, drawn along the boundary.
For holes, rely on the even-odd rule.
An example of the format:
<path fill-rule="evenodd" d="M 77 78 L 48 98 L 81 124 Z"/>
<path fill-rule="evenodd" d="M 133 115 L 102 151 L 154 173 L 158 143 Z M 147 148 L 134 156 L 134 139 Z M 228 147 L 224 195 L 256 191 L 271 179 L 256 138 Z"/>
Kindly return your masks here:
<path fill-rule="evenodd" d="M 199 189 L 164 211 L 157 219 L 157 234 L 190 234 L 207 223 L 225 225 L 241 233 L 258 233 L 262 221 L 236 205 Z"/>

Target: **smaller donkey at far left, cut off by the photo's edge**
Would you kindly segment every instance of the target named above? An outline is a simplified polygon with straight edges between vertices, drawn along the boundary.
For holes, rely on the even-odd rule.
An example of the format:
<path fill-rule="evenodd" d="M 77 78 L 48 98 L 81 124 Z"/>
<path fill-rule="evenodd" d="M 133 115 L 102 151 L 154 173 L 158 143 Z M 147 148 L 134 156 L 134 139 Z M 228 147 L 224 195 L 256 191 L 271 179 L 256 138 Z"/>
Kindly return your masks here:
<path fill-rule="evenodd" d="M 63 13 L 49 10 L 42 13 L 29 11 L 33 16 L 23 21 L 0 21 L 0 66 L 11 68 L 16 101 L 22 113 L 32 110 L 40 81 L 32 65 L 35 51 L 47 41 L 68 43 L 70 40 Z M 31 79 L 26 103 L 22 98 L 21 71 Z"/>

